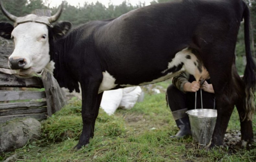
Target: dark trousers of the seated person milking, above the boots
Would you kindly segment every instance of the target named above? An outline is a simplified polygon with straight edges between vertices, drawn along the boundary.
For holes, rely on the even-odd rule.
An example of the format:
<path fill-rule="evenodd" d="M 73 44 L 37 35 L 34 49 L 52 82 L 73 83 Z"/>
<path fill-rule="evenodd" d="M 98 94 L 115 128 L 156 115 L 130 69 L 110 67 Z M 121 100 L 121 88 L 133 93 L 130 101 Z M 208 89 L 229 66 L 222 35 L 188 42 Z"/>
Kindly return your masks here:
<path fill-rule="evenodd" d="M 195 92 L 183 93 L 173 85 L 167 88 L 167 100 L 171 111 L 194 109 L 195 108 Z M 202 90 L 202 100 L 204 109 L 214 109 L 215 95 L 214 93 L 205 92 Z M 196 108 L 201 109 L 201 94 L 200 89 L 197 91 Z"/>

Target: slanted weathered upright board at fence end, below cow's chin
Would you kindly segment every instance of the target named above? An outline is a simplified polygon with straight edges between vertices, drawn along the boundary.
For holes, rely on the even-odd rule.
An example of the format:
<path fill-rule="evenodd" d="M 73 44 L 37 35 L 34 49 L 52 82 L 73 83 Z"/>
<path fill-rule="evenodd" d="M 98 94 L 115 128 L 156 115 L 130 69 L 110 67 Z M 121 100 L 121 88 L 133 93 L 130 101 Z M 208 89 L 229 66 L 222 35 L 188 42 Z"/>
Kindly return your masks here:
<path fill-rule="evenodd" d="M 47 113 L 49 116 L 52 116 L 52 114 L 60 110 L 66 104 L 65 95 L 58 82 L 51 74 L 43 72 L 42 81 L 46 93 Z"/>

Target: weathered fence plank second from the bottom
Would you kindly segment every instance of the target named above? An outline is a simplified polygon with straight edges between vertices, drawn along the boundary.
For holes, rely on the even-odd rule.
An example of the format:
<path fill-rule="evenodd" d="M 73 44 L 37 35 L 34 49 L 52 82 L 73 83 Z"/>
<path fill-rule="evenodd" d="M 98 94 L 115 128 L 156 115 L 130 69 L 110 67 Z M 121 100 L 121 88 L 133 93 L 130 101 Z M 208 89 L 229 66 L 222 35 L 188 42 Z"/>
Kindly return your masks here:
<path fill-rule="evenodd" d="M 17 109 L 3 109 L 0 110 L 0 116 L 15 115 L 15 114 L 31 114 L 47 112 L 47 107 L 31 107 L 31 108 L 17 108 Z"/>

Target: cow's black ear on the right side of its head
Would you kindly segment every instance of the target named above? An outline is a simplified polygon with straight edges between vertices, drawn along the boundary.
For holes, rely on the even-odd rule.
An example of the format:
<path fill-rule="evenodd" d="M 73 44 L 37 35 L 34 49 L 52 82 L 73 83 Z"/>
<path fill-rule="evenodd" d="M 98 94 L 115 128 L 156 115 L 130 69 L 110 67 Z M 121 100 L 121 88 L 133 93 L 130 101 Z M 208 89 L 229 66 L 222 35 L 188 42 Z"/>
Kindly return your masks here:
<path fill-rule="evenodd" d="M 52 28 L 54 38 L 59 39 L 63 37 L 64 35 L 67 34 L 67 32 L 71 29 L 71 27 L 72 27 L 72 24 L 67 21 L 56 23 Z"/>

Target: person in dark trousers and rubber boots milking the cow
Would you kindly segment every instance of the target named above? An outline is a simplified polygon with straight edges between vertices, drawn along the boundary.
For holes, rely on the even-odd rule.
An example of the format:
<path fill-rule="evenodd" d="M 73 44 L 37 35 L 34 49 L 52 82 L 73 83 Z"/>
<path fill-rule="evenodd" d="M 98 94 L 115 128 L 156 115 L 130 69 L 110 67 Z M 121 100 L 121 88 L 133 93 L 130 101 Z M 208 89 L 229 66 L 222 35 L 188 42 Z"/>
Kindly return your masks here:
<path fill-rule="evenodd" d="M 195 93 L 202 89 L 203 108 L 214 109 L 215 94 L 210 79 L 196 81 L 193 75 L 183 72 L 172 79 L 172 84 L 167 88 L 167 103 L 171 109 L 173 118 L 180 128 L 176 135 L 171 137 L 183 137 L 191 135 L 189 116 L 186 111 L 195 108 L 201 109 L 201 94 Z"/>

